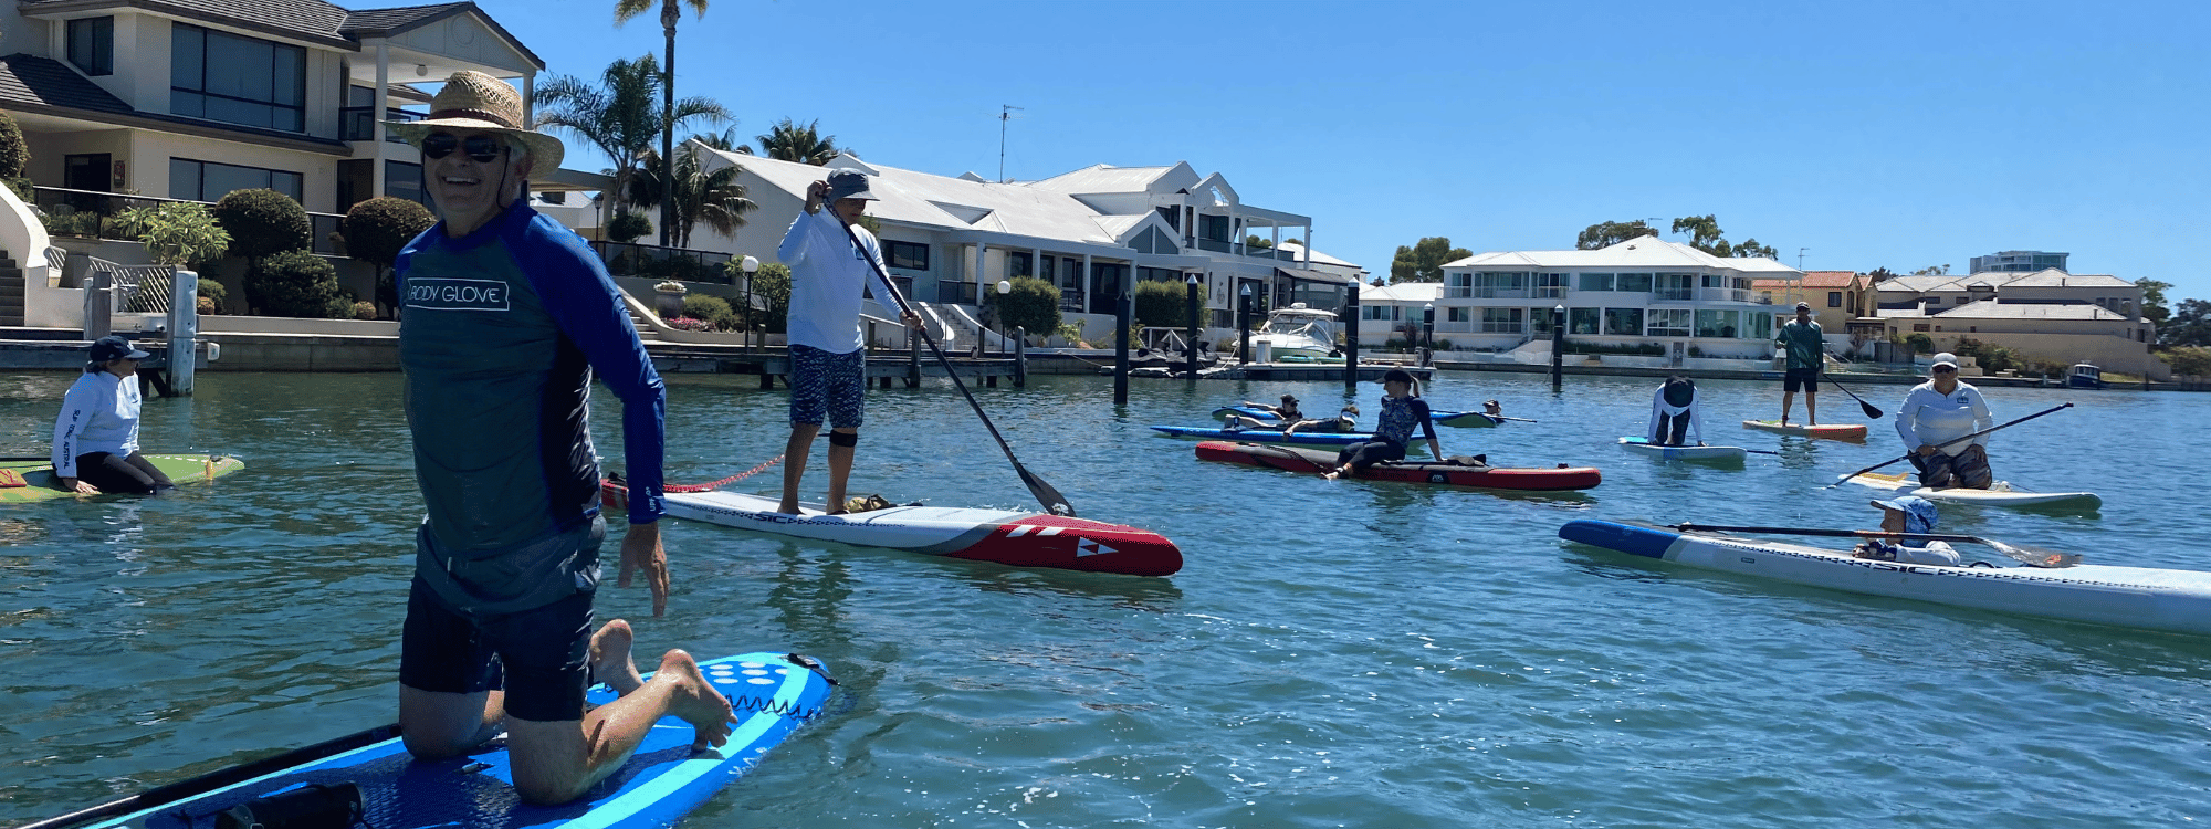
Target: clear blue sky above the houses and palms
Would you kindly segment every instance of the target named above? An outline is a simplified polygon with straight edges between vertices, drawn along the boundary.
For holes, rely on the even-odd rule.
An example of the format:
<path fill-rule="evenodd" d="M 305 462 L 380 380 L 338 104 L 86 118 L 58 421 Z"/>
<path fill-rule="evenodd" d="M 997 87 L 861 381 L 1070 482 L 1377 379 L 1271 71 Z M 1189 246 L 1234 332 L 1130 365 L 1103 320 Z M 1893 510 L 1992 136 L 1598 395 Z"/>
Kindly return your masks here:
<path fill-rule="evenodd" d="M 661 51 L 612 0 L 478 4 L 548 73 Z M 677 93 L 984 177 L 1024 106 L 1008 177 L 1190 161 L 1375 274 L 1419 237 L 1709 212 L 1806 270 L 2061 250 L 2178 301 L 2211 298 L 2207 31 L 2207 2 L 712 0 Z"/>

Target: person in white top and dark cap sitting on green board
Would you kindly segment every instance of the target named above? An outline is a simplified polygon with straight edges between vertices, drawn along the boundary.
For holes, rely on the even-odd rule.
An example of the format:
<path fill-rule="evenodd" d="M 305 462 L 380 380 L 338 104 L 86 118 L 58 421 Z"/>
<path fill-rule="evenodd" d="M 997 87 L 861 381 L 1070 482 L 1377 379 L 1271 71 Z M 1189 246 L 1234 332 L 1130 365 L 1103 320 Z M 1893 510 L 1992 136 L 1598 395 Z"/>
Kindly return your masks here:
<path fill-rule="evenodd" d="M 84 374 L 62 393 L 62 416 L 53 420 L 53 478 L 64 491 L 157 495 L 177 489 L 137 451 L 137 360 L 144 358 L 148 354 L 130 340 L 102 336 Z"/>

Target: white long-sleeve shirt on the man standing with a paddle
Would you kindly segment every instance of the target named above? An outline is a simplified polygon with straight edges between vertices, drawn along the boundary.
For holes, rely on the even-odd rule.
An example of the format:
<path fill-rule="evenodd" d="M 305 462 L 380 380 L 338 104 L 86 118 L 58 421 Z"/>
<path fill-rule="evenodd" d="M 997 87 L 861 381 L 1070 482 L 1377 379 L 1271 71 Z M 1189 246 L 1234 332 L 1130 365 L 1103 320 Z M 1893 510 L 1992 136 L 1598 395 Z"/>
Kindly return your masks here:
<path fill-rule="evenodd" d="M 792 270 L 785 332 L 792 345 L 851 354 L 867 345 L 867 334 L 860 332 L 860 292 L 876 276 L 869 259 L 882 267 L 882 248 L 867 228 L 851 225 L 853 237 L 860 237 L 856 248 L 829 210 L 800 210 L 783 234 L 783 245 L 776 245 L 776 259 Z"/>

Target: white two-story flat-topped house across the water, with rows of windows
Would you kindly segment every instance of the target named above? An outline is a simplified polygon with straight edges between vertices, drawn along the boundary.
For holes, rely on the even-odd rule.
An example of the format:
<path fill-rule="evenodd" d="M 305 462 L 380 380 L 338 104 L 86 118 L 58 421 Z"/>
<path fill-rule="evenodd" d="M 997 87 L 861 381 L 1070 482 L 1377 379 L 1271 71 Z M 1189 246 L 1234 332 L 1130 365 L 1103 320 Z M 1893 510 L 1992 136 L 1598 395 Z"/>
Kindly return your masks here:
<path fill-rule="evenodd" d="M 1667 356 L 1771 358 L 1775 314 L 1751 281 L 1802 276 L 1773 259 L 1725 259 L 1641 237 L 1601 250 L 1488 252 L 1444 265 L 1435 336 L 1455 349 L 1517 349 L 1565 336 L 1587 345 L 1658 347 Z M 1548 347 L 1548 345 L 1543 345 Z"/>

